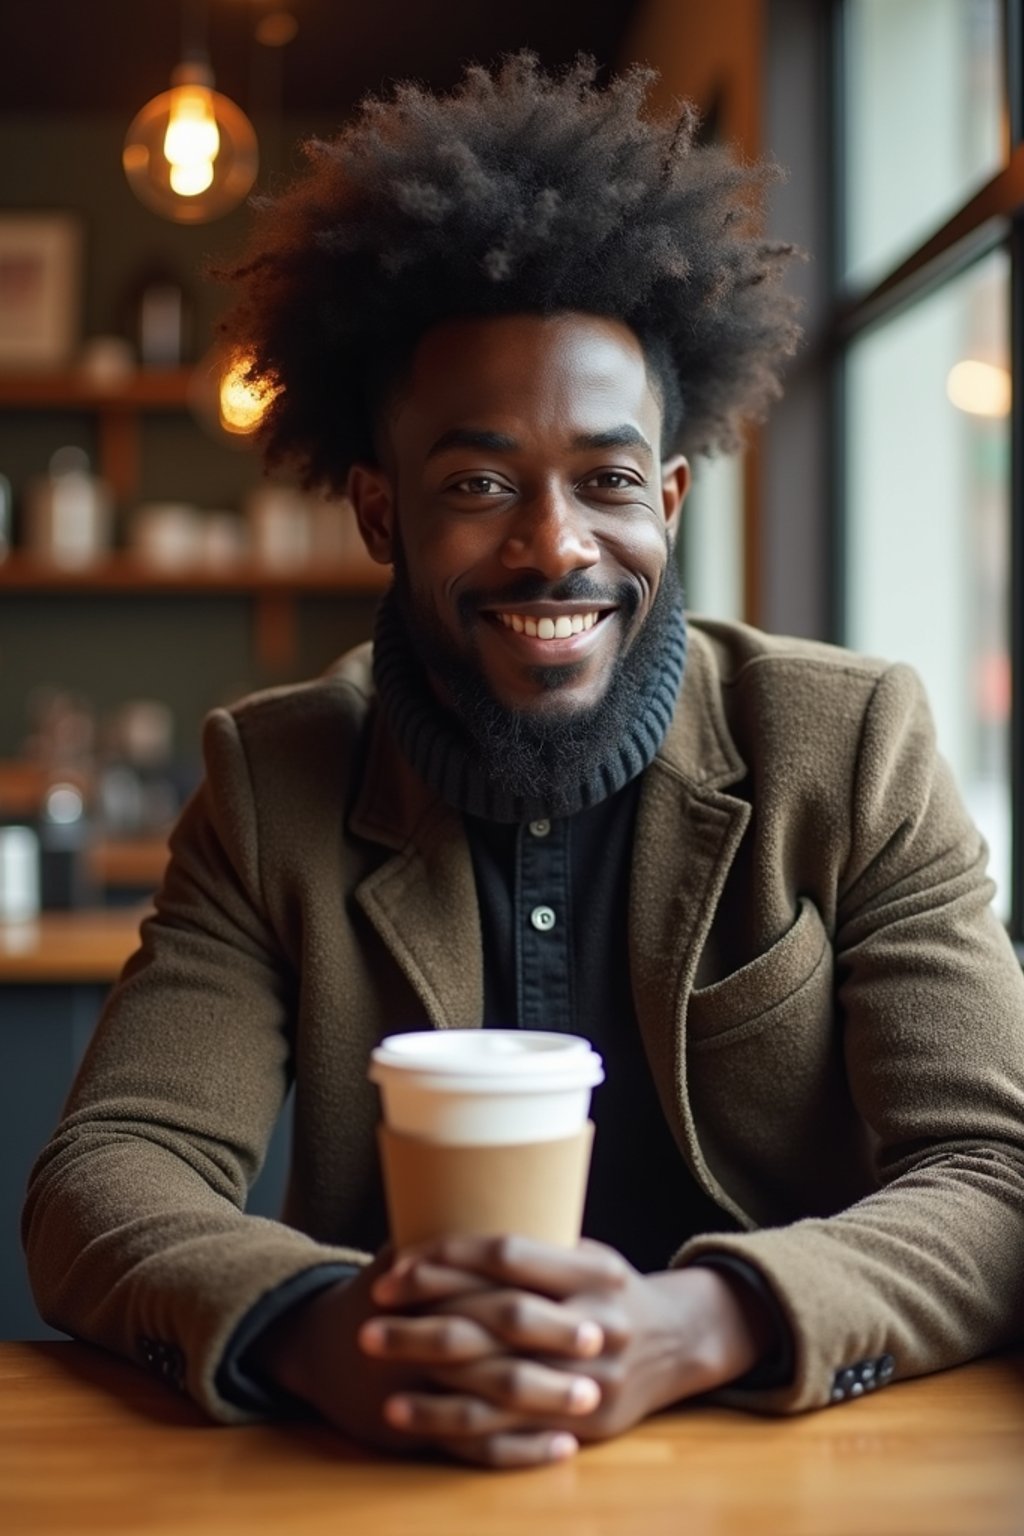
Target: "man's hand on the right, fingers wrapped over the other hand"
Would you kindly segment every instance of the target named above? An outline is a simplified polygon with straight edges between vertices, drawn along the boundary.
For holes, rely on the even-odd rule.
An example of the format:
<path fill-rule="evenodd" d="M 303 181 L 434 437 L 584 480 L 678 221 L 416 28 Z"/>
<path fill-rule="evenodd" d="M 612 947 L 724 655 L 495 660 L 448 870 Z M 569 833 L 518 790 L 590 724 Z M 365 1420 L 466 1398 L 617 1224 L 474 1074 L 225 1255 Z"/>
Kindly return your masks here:
<path fill-rule="evenodd" d="M 367 1322 L 362 1349 L 391 1366 L 430 1362 L 434 1382 L 450 1389 L 395 1393 L 387 1421 L 488 1464 L 522 1452 L 517 1436 L 536 1436 L 539 1425 L 586 1441 L 619 1435 L 745 1375 L 771 1338 L 742 1283 L 700 1266 L 640 1275 L 599 1243 L 565 1250 L 524 1238 L 444 1238 L 396 1258 L 375 1279 L 373 1298 L 401 1315 Z M 431 1353 L 442 1318 L 457 1324 L 457 1372 Z M 560 1339 L 574 1342 L 571 1355 Z M 556 1373 L 574 1382 L 573 1416 L 559 1407 Z"/>

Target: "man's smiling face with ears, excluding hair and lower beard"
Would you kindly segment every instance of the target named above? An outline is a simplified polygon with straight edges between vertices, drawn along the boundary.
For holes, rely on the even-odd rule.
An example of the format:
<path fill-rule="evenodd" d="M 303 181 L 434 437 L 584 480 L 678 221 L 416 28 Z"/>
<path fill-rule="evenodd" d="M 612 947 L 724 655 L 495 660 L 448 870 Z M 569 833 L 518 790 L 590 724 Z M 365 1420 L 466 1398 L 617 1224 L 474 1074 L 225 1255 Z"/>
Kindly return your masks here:
<path fill-rule="evenodd" d="M 689 484 L 662 465 L 634 333 L 591 315 L 427 332 L 348 493 L 395 562 L 442 699 L 445 662 L 505 710 L 571 720 L 605 696 L 657 596 Z"/>

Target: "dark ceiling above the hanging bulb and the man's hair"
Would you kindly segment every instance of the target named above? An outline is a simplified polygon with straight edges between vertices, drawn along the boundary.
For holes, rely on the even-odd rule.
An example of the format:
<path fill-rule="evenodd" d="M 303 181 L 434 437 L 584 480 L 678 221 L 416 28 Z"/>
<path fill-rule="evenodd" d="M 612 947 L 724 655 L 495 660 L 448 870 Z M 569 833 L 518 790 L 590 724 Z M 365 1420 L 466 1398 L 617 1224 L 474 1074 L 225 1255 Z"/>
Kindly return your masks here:
<path fill-rule="evenodd" d="M 167 88 L 183 31 L 209 38 L 216 86 L 250 114 L 344 115 L 365 91 L 415 77 L 450 86 L 468 60 L 533 48 L 613 63 L 640 0 L 3 0 L 0 114 L 134 112 Z M 289 11 L 284 48 L 253 40 Z M 203 22 L 206 12 L 206 23 Z M 45 17 L 45 35 L 40 20 Z"/>

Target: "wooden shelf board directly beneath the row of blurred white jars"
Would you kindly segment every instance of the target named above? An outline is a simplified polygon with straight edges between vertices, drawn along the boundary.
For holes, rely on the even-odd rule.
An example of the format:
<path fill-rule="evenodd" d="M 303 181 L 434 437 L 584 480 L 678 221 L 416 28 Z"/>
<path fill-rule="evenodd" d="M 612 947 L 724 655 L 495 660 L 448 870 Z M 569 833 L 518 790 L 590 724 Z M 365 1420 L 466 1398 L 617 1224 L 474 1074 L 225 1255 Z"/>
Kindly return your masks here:
<path fill-rule="evenodd" d="M 187 565 L 164 570 L 132 554 L 111 554 L 83 570 L 64 570 L 29 554 L 14 553 L 0 562 L 0 590 L 25 593 L 187 593 L 190 596 L 298 596 L 301 593 L 378 593 L 388 571 L 370 561 L 270 568 L 255 562 L 239 565 Z"/>

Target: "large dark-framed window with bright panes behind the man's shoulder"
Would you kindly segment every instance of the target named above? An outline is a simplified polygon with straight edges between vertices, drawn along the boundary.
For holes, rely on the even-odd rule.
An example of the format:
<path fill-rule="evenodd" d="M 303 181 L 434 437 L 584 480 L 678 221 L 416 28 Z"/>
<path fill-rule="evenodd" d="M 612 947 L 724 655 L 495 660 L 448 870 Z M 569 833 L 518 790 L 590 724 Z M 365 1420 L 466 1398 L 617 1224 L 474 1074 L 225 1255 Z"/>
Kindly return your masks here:
<path fill-rule="evenodd" d="M 1022 3 L 835 0 L 832 51 L 838 639 L 921 673 L 1018 943 Z"/>

